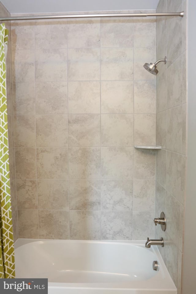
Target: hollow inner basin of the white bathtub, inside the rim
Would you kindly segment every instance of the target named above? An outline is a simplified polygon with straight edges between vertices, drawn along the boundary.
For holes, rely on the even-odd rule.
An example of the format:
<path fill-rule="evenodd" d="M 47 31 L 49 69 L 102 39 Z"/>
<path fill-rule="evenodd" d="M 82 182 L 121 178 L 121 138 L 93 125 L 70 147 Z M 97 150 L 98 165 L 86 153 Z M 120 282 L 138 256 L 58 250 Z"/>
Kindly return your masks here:
<path fill-rule="evenodd" d="M 154 277 L 152 250 L 130 243 L 45 240 L 16 248 L 16 276 L 59 283 L 112 283 Z"/>

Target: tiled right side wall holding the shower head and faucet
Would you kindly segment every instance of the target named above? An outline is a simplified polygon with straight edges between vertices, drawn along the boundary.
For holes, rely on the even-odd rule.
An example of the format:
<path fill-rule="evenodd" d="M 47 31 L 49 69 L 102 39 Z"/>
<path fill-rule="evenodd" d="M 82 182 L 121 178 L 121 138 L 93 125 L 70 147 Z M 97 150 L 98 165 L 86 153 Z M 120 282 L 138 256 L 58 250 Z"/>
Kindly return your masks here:
<path fill-rule="evenodd" d="M 164 262 L 181 293 L 183 221 L 187 155 L 187 78 L 186 78 L 186 3 L 160 0 L 157 12 L 184 11 L 185 16 L 159 18 L 156 27 L 157 59 L 167 55 L 167 65 L 157 75 L 157 153 L 156 217 L 164 211 L 167 229 L 156 227 L 155 236 L 163 237 L 160 248 Z"/>

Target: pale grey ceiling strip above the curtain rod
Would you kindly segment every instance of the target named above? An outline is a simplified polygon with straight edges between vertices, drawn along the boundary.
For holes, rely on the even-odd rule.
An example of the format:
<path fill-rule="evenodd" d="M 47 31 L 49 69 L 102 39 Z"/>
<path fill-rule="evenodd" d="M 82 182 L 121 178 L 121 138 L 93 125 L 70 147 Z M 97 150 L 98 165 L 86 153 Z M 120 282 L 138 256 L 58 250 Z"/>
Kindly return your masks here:
<path fill-rule="evenodd" d="M 159 0 L 1 0 L 10 13 L 156 9 Z"/>

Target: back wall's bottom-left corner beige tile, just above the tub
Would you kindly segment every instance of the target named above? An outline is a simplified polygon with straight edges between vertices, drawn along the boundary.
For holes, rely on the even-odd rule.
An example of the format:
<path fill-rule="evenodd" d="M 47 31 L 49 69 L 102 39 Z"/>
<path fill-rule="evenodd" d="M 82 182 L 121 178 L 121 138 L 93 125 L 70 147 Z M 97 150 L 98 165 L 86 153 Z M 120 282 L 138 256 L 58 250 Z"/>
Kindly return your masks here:
<path fill-rule="evenodd" d="M 38 210 L 18 210 L 18 237 L 39 239 Z"/>

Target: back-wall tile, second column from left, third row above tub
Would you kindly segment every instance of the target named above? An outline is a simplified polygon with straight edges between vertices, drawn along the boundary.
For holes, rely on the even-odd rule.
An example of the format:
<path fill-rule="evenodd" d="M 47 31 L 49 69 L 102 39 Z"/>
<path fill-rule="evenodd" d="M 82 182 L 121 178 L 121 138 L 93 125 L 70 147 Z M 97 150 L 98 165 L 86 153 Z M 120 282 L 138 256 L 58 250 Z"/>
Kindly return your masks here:
<path fill-rule="evenodd" d="M 67 148 L 37 148 L 37 178 L 67 179 Z"/>

